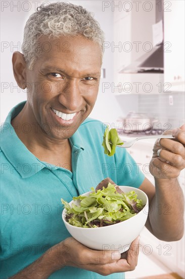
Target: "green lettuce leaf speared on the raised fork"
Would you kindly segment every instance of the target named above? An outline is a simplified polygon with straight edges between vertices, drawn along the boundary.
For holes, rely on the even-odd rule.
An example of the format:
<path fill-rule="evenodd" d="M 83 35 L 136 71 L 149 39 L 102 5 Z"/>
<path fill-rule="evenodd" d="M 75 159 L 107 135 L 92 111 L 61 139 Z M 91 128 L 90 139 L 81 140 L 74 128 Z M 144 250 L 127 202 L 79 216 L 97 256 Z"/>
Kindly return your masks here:
<path fill-rule="evenodd" d="M 116 152 L 116 146 L 117 145 L 123 145 L 123 141 L 121 141 L 121 138 L 118 136 L 116 129 L 110 129 L 107 126 L 104 136 L 103 136 L 103 143 L 102 146 L 104 147 L 104 153 L 108 156 L 113 156 Z"/>

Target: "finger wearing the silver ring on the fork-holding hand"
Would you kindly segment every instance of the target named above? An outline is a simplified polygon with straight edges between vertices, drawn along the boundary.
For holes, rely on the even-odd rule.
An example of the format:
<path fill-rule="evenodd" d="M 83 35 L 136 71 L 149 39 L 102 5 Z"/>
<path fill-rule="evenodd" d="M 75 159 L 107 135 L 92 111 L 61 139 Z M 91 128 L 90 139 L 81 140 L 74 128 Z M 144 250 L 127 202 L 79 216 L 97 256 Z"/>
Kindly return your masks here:
<path fill-rule="evenodd" d="M 168 161 L 171 165 L 174 165 L 177 168 L 184 168 L 184 159 L 181 157 L 181 155 L 171 153 L 165 149 L 159 149 L 157 155 L 160 159 Z"/>

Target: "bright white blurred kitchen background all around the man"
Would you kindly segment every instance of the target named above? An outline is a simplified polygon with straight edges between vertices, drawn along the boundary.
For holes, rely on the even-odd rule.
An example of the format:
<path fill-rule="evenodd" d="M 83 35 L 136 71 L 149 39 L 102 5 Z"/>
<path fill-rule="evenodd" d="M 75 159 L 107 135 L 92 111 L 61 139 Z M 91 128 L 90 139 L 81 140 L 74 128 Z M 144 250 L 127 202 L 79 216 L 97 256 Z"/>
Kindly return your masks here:
<path fill-rule="evenodd" d="M 15 104 L 26 99 L 26 92 L 17 87 L 11 63 L 12 53 L 21 51 L 25 22 L 40 4 L 52 2 L 56 1 L 1 2 L 1 123 Z M 154 118 L 156 129 L 182 125 L 184 1 L 70 2 L 93 12 L 105 32 L 102 79 L 90 117 L 120 127 L 122 118 L 135 112 Z M 141 141 L 128 150 L 152 182 L 147 166 L 153 144 Z M 184 191 L 184 172 L 179 182 Z M 164 242 L 145 229 L 141 245 L 136 270 L 127 272 L 127 279 L 184 278 L 184 237 Z M 178 275 L 169 275 L 172 272 Z"/>

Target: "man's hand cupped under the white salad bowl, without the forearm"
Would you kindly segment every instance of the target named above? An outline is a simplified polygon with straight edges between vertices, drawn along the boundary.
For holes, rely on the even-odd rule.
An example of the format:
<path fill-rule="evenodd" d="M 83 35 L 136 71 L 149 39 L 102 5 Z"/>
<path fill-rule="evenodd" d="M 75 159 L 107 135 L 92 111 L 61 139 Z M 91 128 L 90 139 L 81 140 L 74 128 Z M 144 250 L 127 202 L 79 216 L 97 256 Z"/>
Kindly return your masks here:
<path fill-rule="evenodd" d="M 58 254 L 55 259 L 55 268 L 74 266 L 101 275 L 134 270 L 139 251 L 138 240 L 137 237 L 131 243 L 130 249 L 120 254 L 118 251 L 91 250 L 73 237 L 66 238 L 52 249 Z"/>

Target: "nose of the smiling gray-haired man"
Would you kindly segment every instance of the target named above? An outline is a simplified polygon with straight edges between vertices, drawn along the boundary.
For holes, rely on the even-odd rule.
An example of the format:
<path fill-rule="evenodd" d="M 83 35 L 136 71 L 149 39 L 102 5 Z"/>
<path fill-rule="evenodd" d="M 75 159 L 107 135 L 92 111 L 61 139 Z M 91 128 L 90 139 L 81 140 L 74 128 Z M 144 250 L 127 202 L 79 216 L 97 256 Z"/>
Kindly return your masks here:
<path fill-rule="evenodd" d="M 83 97 L 80 92 L 79 81 L 71 80 L 62 86 L 59 94 L 59 102 L 68 111 L 77 112 L 81 110 Z"/>

